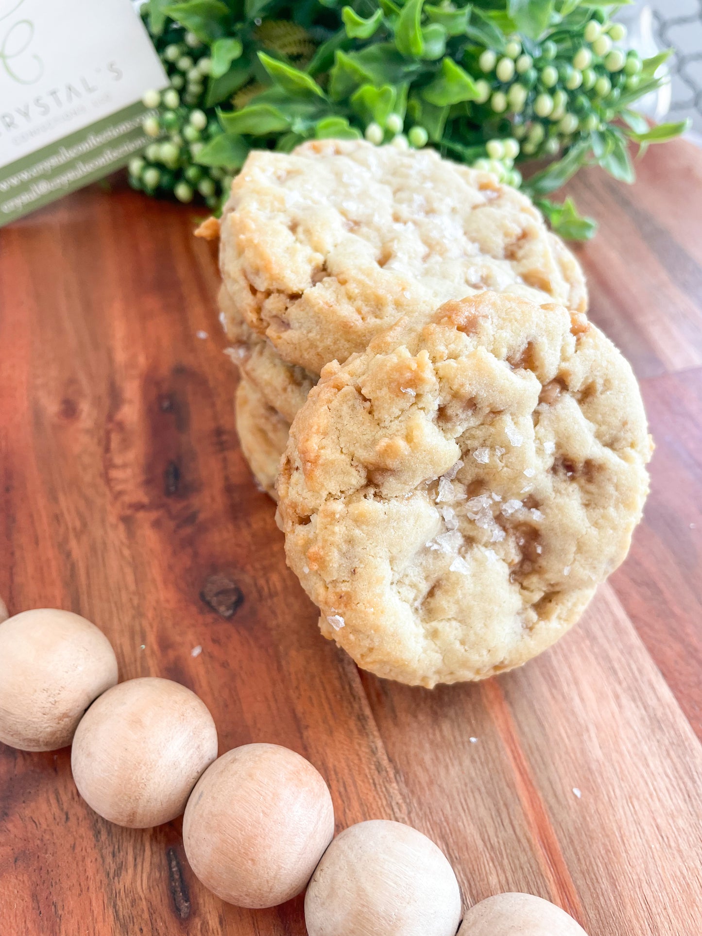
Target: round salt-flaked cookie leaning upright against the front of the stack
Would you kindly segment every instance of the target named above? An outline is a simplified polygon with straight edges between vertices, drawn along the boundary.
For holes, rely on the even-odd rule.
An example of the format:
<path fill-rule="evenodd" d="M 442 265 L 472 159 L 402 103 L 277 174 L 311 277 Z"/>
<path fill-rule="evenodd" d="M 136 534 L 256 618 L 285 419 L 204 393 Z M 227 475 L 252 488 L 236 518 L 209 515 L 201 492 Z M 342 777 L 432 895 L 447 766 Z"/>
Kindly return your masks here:
<path fill-rule="evenodd" d="M 287 560 L 358 665 L 525 663 L 624 559 L 648 491 L 636 378 L 583 314 L 486 291 L 336 362 L 278 478 Z"/>

